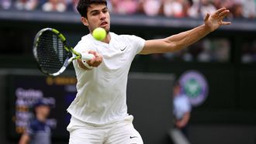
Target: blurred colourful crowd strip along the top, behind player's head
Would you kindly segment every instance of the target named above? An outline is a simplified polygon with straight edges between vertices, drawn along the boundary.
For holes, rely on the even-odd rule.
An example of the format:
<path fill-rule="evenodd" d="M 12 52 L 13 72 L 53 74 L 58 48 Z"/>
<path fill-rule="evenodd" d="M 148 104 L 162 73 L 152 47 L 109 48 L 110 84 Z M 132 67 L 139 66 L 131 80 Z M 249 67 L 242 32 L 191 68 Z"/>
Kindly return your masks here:
<path fill-rule="evenodd" d="M 0 9 L 44 12 L 76 12 L 78 0 L 0 0 Z M 256 0 L 108 0 L 109 10 L 119 15 L 164 15 L 202 18 L 207 12 L 226 7 L 230 18 L 255 19 Z"/>

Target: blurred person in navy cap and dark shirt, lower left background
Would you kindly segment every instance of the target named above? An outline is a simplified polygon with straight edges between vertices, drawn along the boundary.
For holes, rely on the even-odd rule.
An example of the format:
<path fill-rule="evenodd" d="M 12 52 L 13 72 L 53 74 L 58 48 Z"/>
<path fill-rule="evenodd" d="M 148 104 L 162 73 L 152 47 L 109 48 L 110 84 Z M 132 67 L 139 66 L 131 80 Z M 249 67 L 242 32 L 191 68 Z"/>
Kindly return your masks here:
<path fill-rule="evenodd" d="M 35 118 L 30 122 L 19 139 L 19 144 L 50 144 L 50 126 L 46 124 L 47 117 L 50 114 L 50 104 L 43 99 L 36 101 L 34 105 Z"/>

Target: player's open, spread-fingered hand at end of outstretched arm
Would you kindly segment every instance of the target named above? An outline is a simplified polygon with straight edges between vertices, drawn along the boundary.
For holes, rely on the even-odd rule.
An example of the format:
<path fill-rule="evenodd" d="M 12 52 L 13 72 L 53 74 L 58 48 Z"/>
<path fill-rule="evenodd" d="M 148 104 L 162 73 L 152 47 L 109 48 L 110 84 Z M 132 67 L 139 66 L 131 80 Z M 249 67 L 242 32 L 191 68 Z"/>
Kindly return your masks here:
<path fill-rule="evenodd" d="M 226 8 L 218 9 L 212 15 L 207 13 L 204 18 L 204 23 L 207 28 L 209 28 L 210 32 L 213 32 L 215 29 L 218 29 L 222 25 L 230 25 L 231 22 L 223 22 L 223 19 L 229 15 L 230 10 Z"/>

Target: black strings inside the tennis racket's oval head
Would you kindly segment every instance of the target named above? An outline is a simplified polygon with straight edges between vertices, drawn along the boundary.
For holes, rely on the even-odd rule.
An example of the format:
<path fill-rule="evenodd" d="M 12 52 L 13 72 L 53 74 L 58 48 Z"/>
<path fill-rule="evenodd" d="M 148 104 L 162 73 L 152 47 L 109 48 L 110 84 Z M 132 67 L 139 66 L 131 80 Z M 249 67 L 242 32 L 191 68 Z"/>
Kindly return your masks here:
<path fill-rule="evenodd" d="M 37 58 L 40 67 L 48 74 L 54 74 L 63 67 L 68 53 L 64 43 L 50 31 L 43 32 L 37 40 Z"/>

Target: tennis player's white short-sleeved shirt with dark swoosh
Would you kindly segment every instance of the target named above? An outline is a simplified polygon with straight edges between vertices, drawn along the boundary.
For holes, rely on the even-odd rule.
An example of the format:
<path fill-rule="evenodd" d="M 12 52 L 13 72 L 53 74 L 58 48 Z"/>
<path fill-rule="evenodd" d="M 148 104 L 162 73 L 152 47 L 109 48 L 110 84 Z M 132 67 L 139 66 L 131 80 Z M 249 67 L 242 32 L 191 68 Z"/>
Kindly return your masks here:
<path fill-rule="evenodd" d="M 78 79 L 78 94 L 67 111 L 83 122 L 108 124 L 127 114 L 126 84 L 133 58 L 143 49 L 145 40 L 137 36 L 110 33 L 110 43 L 83 36 L 74 50 L 95 50 L 103 57 L 99 67 L 83 70 L 73 61 Z"/>

